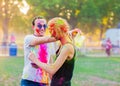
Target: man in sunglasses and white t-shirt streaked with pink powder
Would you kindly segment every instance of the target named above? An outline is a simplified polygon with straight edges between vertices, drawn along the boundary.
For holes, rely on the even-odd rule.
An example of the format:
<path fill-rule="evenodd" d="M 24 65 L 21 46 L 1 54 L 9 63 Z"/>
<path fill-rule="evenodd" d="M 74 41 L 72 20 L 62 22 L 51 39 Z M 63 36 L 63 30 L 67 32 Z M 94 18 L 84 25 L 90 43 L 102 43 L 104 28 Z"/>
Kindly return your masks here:
<path fill-rule="evenodd" d="M 35 17 L 32 21 L 32 29 L 34 33 L 27 35 L 24 39 L 24 69 L 21 86 L 48 85 L 48 74 L 41 68 L 38 68 L 28 58 L 29 53 L 34 52 L 40 61 L 48 63 L 52 54 L 49 51 L 52 51 L 52 47 L 50 47 L 47 43 L 56 41 L 56 39 L 53 37 L 44 36 L 46 28 L 46 20 L 42 17 Z"/>

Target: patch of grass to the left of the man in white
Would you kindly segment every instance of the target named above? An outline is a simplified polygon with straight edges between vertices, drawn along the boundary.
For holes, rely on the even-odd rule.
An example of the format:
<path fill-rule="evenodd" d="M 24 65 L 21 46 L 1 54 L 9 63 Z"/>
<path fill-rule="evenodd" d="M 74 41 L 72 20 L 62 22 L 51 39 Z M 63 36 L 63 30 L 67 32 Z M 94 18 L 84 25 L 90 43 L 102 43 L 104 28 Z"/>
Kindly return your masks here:
<path fill-rule="evenodd" d="M 23 58 L 0 57 L 0 86 L 20 86 Z"/>

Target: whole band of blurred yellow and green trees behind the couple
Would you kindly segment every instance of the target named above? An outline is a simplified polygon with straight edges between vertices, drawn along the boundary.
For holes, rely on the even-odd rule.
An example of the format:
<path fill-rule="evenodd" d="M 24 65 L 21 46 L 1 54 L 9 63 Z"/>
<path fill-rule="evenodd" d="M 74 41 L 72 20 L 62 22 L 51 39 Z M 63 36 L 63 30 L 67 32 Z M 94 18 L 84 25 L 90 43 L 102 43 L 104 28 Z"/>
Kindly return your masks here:
<path fill-rule="evenodd" d="M 120 0 L 0 0 L 0 4 L 0 30 L 6 41 L 11 32 L 30 33 L 35 16 L 63 17 L 71 29 L 97 34 L 99 40 L 120 22 Z"/>

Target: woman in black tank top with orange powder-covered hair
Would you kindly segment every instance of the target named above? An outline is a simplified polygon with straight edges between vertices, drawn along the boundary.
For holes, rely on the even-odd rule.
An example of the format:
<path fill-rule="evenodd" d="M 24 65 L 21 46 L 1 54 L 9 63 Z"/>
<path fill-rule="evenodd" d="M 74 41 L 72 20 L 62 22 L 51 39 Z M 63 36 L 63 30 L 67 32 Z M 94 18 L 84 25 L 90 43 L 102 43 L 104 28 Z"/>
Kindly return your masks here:
<path fill-rule="evenodd" d="M 73 40 L 68 33 L 69 28 L 67 21 L 60 17 L 53 18 L 48 22 L 48 29 L 50 30 L 51 36 L 60 40 L 62 45 L 53 64 L 40 62 L 32 52 L 29 55 L 29 59 L 33 63 L 52 75 L 51 86 L 71 86 L 75 48 Z"/>

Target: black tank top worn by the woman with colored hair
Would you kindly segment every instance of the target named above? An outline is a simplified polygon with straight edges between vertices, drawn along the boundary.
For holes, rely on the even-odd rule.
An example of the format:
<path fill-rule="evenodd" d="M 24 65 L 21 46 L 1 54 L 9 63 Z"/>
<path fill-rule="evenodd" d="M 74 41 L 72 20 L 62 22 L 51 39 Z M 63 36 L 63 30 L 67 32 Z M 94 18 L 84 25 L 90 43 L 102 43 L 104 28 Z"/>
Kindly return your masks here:
<path fill-rule="evenodd" d="M 71 86 L 71 78 L 73 76 L 74 62 L 76 51 L 71 60 L 66 60 L 61 68 L 53 75 L 51 86 Z"/>

